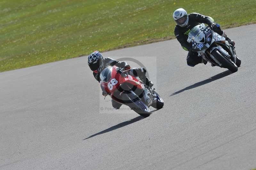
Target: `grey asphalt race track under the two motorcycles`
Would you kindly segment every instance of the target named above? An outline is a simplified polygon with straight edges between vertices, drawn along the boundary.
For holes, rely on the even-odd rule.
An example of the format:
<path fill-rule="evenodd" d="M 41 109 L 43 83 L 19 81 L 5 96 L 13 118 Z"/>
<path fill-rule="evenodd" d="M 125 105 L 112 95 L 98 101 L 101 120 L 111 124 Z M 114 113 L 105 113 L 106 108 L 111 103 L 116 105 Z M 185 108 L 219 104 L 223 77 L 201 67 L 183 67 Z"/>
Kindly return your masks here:
<path fill-rule="evenodd" d="M 256 168 L 255 32 L 226 30 L 242 60 L 236 73 L 187 66 L 177 40 L 103 53 L 149 58 L 164 108 L 144 119 L 100 111 L 110 98 L 87 57 L 0 73 L 0 169 Z"/>

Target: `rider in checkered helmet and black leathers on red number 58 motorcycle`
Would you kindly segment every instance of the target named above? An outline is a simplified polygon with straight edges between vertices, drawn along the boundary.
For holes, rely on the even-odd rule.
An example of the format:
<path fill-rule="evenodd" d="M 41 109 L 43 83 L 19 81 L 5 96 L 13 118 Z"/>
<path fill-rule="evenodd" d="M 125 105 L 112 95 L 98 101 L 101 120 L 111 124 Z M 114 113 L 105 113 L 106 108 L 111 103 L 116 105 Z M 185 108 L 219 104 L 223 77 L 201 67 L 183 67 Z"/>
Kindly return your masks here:
<path fill-rule="evenodd" d="M 147 86 L 152 87 L 153 83 L 152 81 L 148 80 L 146 77 L 146 69 L 145 68 L 132 68 L 130 65 L 128 65 L 125 61 L 116 61 L 112 58 L 103 58 L 103 56 L 100 54 L 99 51 L 94 51 L 92 54 L 88 56 L 88 66 L 93 71 L 94 78 L 100 82 L 100 73 L 107 68 L 108 66 L 117 66 L 120 68 L 124 68 L 124 70 L 130 69 L 129 74 L 132 76 L 138 76 L 141 81 L 143 81 Z M 108 93 L 105 91 L 103 87 L 102 89 L 102 95 L 106 96 Z M 116 109 L 119 109 L 119 107 L 122 105 L 120 103 L 117 103 L 113 99 L 111 100 L 112 106 Z"/>

